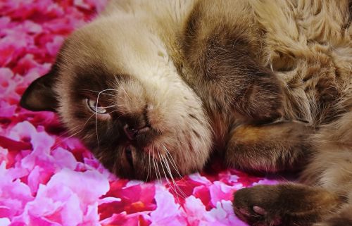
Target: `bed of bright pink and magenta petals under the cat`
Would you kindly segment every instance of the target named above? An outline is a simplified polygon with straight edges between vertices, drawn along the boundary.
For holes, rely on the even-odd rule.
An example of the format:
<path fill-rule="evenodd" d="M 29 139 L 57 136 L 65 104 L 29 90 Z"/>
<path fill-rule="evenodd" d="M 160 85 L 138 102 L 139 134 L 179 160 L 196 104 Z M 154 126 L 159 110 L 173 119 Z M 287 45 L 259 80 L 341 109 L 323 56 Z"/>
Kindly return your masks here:
<path fill-rule="evenodd" d="M 189 175 L 178 188 L 120 180 L 65 134 L 54 113 L 18 106 L 63 39 L 105 3 L 0 1 L 0 225 L 245 225 L 232 211 L 233 192 L 275 181 L 236 170 Z"/>

